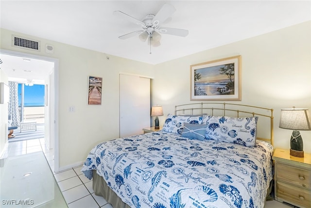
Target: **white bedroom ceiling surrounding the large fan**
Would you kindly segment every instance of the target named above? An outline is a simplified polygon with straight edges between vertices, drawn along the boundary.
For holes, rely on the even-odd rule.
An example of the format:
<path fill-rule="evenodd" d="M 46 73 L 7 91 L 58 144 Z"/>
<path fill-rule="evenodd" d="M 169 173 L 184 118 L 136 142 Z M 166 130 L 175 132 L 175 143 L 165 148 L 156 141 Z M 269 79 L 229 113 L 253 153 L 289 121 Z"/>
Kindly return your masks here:
<path fill-rule="evenodd" d="M 161 26 L 187 29 L 187 37 L 161 34 L 152 54 L 138 36 L 118 38 L 140 27 L 113 11 L 142 20 L 164 3 L 176 12 Z M 311 0 L 1 0 L 0 13 L 1 28 L 157 64 L 311 20 Z"/>

